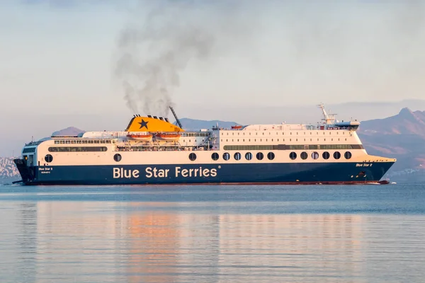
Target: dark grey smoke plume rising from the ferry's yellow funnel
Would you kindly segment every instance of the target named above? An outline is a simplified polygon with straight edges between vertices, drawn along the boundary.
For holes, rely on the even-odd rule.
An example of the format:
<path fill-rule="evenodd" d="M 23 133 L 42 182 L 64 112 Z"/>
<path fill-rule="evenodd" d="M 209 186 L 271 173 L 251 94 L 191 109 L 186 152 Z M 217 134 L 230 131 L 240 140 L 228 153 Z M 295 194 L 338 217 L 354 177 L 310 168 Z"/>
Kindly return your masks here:
<path fill-rule="evenodd" d="M 166 116 L 181 71 L 209 56 L 215 37 L 191 2 L 159 1 L 143 21 L 136 13 L 121 31 L 115 76 L 132 112 Z"/>

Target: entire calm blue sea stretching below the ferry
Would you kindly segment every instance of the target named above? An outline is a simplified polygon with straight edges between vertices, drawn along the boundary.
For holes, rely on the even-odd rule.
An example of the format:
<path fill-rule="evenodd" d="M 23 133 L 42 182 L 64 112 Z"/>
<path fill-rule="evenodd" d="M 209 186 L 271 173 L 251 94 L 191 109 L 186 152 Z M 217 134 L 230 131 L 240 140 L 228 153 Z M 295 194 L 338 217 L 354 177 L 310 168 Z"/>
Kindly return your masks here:
<path fill-rule="evenodd" d="M 0 282 L 425 282 L 425 185 L 0 185 Z"/>

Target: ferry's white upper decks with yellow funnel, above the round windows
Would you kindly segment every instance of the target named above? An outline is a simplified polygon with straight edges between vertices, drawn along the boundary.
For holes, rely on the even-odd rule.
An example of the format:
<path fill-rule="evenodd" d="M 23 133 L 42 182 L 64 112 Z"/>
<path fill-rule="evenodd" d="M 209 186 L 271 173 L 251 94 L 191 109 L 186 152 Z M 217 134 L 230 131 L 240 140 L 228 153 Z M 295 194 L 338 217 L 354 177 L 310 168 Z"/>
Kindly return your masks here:
<path fill-rule="evenodd" d="M 347 146 L 363 149 L 358 146 L 361 141 L 356 134 L 360 122 L 339 122 L 335 115 L 327 114 L 323 105 L 319 108 L 323 119 L 317 125 L 281 123 L 234 126 L 231 129 L 216 125 L 212 129 L 184 130 L 166 118 L 135 115 L 125 131 L 52 136 L 52 141 L 47 144 L 60 146 L 52 151 L 95 151 L 96 148 L 106 151 L 110 147 L 109 150 L 113 151 L 341 149 Z M 26 147 L 41 142 L 32 142 Z M 65 149 L 67 146 L 69 149 Z"/>

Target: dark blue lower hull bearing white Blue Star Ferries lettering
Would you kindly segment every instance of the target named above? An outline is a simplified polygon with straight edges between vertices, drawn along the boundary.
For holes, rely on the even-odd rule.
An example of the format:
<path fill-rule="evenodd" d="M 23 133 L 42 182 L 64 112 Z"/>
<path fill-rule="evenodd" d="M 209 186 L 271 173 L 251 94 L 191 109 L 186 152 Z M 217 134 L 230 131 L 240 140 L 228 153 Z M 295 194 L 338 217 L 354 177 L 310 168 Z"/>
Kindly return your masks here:
<path fill-rule="evenodd" d="M 35 179 L 26 184 L 362 183 L 380 180 L 392 164 L 393 162 L 40 166 L 34 168 Z"/>

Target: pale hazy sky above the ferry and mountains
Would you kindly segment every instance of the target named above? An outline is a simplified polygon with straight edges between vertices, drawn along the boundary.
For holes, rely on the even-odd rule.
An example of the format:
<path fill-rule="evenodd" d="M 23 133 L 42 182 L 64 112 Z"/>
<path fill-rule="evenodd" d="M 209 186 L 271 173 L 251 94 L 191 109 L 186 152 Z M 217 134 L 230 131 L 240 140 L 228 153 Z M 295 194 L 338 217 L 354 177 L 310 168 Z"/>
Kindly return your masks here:
<path fill-rule="evenodd" d="M 424 50 L 424 1 L 3 0 L 0 156 L 169 104 L 240 123 L 318 120 L 317 103 L 425 110 Z"/>

